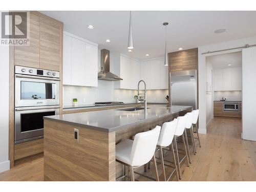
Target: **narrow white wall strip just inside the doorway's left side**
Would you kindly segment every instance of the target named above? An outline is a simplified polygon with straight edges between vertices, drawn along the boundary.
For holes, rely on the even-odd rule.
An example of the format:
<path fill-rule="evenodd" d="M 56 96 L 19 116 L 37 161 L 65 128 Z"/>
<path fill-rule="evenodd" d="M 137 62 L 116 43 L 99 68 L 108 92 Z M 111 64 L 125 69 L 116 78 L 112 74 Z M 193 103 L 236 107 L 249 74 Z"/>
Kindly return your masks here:
<path fill-rule="evenodd" d="M 206 58 L 206 82 L 212 88 L 212 63 Z M 212 90 L 212 89 L 211 89 Z M 205 93 L 206 94 L 206 93 Z M 212 118 L 212 91 L 206 94 L 206 123 L 209 124 Z"/>

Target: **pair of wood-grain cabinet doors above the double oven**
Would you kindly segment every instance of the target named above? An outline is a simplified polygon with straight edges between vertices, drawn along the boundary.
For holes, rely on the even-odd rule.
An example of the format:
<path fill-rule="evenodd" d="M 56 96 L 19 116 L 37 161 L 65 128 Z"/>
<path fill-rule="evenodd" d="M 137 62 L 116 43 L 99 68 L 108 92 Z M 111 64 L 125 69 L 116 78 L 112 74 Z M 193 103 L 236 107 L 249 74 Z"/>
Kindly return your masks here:
<path fill-rule="evenodd" d="M 60 71 L 63 24 L 42 13 L 29 16 L 29 46 L 14 46 L 14 65 Z"/>

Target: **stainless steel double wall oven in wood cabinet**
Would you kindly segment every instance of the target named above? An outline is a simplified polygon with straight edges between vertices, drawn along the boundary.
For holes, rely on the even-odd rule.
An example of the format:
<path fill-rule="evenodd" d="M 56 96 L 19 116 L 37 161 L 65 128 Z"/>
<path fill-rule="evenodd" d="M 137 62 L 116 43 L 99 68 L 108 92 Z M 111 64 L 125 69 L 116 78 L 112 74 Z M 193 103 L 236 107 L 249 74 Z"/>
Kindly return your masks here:
<path fill-rule="evenodd" d="M 15 66 L 15 144 L 44 137 L 44 116 L 59 114 L 59 72 Z"/>

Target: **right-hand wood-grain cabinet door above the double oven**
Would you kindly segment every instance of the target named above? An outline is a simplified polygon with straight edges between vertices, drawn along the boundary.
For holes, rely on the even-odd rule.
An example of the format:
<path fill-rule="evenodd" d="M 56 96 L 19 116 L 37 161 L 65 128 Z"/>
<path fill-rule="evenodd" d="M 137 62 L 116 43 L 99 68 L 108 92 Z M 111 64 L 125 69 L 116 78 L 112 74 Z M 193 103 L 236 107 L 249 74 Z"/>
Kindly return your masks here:
<path fill-rule="evenodd" d="M 40 68 L 59 71 L 60 24 L 40 17 Z"/>

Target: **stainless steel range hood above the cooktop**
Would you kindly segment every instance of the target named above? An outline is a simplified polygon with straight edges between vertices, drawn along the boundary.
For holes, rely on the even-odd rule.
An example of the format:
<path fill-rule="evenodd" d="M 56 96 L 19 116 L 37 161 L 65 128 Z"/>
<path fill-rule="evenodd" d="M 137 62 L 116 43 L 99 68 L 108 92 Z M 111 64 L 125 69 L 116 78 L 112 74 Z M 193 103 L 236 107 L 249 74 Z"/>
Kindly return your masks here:
<path fill-rule="evenodd" d="M 100 72 L 98 73 L 98 79 L 108 81 L 123 80 L 110 72 L 110 51 L 106 49 L 100 51 Z"/>

